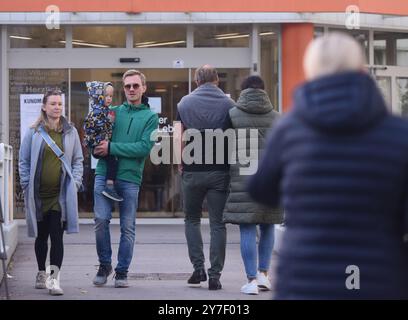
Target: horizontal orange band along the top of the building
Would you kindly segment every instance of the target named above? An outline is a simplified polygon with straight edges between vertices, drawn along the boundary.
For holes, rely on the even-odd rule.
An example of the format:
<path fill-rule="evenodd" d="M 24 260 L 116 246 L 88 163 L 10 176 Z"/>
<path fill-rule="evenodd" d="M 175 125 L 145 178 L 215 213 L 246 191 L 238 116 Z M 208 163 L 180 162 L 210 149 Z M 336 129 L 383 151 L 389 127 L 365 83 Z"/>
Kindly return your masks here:
<path fill-rule="evenodd" d="M 361 12 L 408 15 L 407 0 L 1 0 L 0 11 L 95 12 L 344 12 L 357 5 Z"/>

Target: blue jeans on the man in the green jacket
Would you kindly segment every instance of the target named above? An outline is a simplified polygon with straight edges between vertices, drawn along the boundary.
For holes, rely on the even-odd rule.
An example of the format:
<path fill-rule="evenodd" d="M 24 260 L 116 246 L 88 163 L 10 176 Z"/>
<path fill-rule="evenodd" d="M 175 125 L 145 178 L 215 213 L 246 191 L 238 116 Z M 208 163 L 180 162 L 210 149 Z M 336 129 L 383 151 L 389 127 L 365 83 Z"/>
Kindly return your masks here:
<path fill-rule="evenodd" d="M 109 224 L 112 218 L 113 201 L 102 195 L 106 177 L 97 175 L 94 187 L 95 237 L 99 263 L 112 264 L 112 245 Z M 120 242 L 117 273 L 127 273 L 133 256 L 135 243 L 135 219 L 138 205 L 139 186 L 132 182 L 115 180 L 115 190 L 123 197 L 119 202 Z"/>

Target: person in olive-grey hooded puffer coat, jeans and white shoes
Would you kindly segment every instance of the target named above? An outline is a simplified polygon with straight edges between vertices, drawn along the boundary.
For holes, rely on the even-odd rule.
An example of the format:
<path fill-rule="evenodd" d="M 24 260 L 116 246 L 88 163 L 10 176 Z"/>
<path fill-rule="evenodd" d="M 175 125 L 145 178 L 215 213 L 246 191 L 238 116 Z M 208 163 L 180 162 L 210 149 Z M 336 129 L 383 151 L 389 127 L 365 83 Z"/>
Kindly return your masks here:
<path fill-rule="evenodd" d="M 265 136 L 279 114 L 273 110 L 260 77 L 248 77 L 242 83 L 241 89 L 237 106 L 230 110 L 229 115 L 236 131 L 238 155 L 250 155 L 251 160 L 249 165 L 242 164 L 242 159 L 231 165 L 231 187 L 224 210 L 224 222 L 239 224 L 240 227 L 241 256 L 248 279 L 241 292 L 258 294 L 259 289 L 271 289 L 268 270 L 274 243 L 274 224 L 282 222 L 282 213 L 278 209 L 259 205 L 250 198 L 245 191 L 247 169 L 257 167 L 259 155 L 264 149 Z M 256 130 L 255 136 L 250 135 L 249 129 Z M 255 171 L 256 168 L 252 173 Z M 258 246 L 257 225 L 260 227 Z"/>

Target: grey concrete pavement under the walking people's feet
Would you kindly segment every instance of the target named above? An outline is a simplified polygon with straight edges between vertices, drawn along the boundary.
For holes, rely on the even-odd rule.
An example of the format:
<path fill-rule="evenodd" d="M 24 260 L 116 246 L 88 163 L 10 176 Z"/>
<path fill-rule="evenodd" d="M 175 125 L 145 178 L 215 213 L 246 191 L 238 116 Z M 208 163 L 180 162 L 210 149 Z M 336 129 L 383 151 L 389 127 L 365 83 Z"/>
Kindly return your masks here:
<path fill-rule="evenodd" d="M 169 220 L 169 221 L 167 221 Z M 209 267 L 209 225 L 203 219 L 202 235 L 206 268 Z M 82 221 L 84 222 L 84 221 Z M 119 243 L 119 225 L 111 225 L 113 266 Z M 245 283 L 244 267 L 239 249 L 239 229 L 227 225 L 227 251 L 224 271 L 221 276 L 222 290 L 208 290 L 208 283 L 201 288 L 187 287 L 187 278 L 192 272 L 188 259 L 182 219 L 138 219 L 136 243 L 129 269 L 129 288 L 113 287 L 112 275 L 105 287 L 93 286 L 98 260 L 92 224 L 81 224 L 80 233 L 64 235 L 64 262 L 61 270 L 61 287 L 65 294 L 52 297 L 48 290 L 34 288 L 37 264 L 34 254 L 34 239 L 26 235 L 26 227 L 19 226 L 19 242 L 9 267 L 9 289 L 12 300 L 267 300 L 271 292 L 260 292 L 257 296 L 240 293 Z M 274 255 L 272 268 L 276 262 Z M 0 289 L 4 299 L 4 288 Z"/>

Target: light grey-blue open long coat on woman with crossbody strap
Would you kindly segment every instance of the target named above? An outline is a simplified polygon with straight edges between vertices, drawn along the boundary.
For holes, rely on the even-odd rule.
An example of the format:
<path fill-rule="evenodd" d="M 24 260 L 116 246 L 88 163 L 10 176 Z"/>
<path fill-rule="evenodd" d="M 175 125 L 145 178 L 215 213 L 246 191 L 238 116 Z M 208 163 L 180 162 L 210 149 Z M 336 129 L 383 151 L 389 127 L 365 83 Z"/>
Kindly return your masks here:
<path fill-rule="evenodd" d="M 77 192 L 82 184 L 83 156 L 78 132 L 74 126 L 62 118 L 63 151 L 68 165 L 72 168 L 74 181 L 62 166 L 59 204 L 61 206 L 62 221 L 66 222 L 66 232 L 79 231 L 78 224 L 78 196 Z M 34 128 L 26 133 L 19 155 L 20 184 L 24 191 L 25 215 L 29 237 L 37 237 L 37 221 L 42 220 L 41 201 L 39 197 L 41 161 L 45 141 Z"/>

